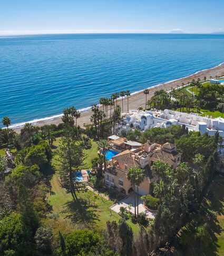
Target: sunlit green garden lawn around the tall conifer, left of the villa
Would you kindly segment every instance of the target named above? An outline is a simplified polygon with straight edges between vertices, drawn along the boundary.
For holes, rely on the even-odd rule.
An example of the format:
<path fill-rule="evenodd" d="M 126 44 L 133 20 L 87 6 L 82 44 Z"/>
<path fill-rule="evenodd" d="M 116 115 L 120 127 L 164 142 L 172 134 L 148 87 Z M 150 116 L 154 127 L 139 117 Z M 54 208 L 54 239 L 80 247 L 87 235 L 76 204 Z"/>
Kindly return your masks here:
<path fill-rule="evenodd" d="M 58 146 L 60 138 L 54 142 Z M 56 153 L 56 152 L 55 152 Z M 81 203 L 74 203 L 71 194 L 67 194 L 65 189 L 61 187 L 59 182 L 59 163 L 57 155 L 54 153 L 52 164 L 55 168 L 55 174 L 51 180 L 52 193 L 48 196 L 48 202 L 53 207 L 53 212 L 59 213 L 59 222 L 69 220 L 74 227 L 87 226 L 96 230 L 106 228 L 106 221 L 118 221 L 120 215 L 113 211 L 109 211 L 113 201 L 106 200 L 94 194 L 92 191 L 81 191 L 77 193 Z M 92 147 L 84 150 L 84 161 L 82 168 L 91 168 L 91 159 L 98 155 L 97 144 L 92 140 Z M 90 203 L 89 203 L 90 202 Z M 133 224 L 130 220 L 127 221 L 131 225 L 134 233 L 137 233 L 140 228 L 137 224 Z"/>

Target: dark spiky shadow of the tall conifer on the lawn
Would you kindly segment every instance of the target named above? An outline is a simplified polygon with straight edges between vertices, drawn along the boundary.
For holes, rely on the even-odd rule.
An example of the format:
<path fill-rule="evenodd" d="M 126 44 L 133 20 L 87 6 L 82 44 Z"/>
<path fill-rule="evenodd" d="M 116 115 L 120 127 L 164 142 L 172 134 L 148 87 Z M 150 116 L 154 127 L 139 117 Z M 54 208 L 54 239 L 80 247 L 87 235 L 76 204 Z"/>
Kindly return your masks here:
<path fill-rule="evenodd" d="M 74 224 L 83 223 L 85 226 L 89 226 L 98 218 L 94 213 L 94 205 L 88 205 L 85 200 L 79 198 L 77 201 L 70 201 L 65 203 L 65 210 L 63 213 L 66 213 L 66 217 L 71 219 Z"/>

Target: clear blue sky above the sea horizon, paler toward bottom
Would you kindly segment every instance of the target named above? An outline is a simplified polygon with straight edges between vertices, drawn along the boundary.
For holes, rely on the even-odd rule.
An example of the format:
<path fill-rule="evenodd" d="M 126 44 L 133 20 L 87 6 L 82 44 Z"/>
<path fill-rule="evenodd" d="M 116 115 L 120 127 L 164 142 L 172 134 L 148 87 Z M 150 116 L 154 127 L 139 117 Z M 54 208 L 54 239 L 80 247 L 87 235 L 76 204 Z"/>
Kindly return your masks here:
<path fill-rule="evenodd" d="M 0 34 L 224 31 L 223 0 L 6 0 Z"/>

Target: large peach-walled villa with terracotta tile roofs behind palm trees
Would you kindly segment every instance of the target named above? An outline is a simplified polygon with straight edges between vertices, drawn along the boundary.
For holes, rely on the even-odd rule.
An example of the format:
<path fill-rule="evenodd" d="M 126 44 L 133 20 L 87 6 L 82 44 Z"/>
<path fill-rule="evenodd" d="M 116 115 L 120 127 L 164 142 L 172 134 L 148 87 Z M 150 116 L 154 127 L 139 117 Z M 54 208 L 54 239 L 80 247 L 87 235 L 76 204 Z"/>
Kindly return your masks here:
<path fill-rule="evenodd" d="M 123 195 L 129 195 L 134 189 L 136 193 L 137 186 L 133 188 L 126 178 L 126 174 L 130 168 L 139 167 L 144 169 L 145 174 L 144 181 L 139 186 L 139 194 L 150 194 L 152 190 L 151 183 L 158 180 L 158 177 L 152 173 L 150 166 L 157 160 L 176 168 L 180 163 L 181 154 L 170 143 L 160 145 L 150 143 L 150 141 L 138 148 L 126 149 L 109 160 L 108 167 L 105 170 L 105 186 Z"/>

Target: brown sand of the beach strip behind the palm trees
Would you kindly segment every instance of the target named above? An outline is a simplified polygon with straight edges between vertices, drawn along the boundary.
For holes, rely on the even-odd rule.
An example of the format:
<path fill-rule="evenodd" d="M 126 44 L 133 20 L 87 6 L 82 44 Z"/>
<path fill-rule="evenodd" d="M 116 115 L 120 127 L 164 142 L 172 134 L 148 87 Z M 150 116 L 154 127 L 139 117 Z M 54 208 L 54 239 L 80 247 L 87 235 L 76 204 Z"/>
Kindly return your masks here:
<path fill-rule="evenodd" d="M 200 78 L 201 80 L 203 80 L 204 77 L 207 77 L 207 79 L 209 79 L 210 76 L 214 78 L 216 77 L 216 75 L 217 76 L 224 75 L 224 64 L 215 68 L 201 71 L 197 74 L 192 74 L 187 78 L 181 78 L 175 81 L 171 81 L 169 83 L 161 84 L 160 86 L 157 86 L 157 87 L 149 88 L 150 92 L 147 95 L 147 99 L 150 99 L 153 96 L 154 92 L 157 90 L 161 90 L 161 89 L 165 91 L 171 90 L 172 88 L 177 88 L 177 85 L 181 86 L 182 83 L 187 84 L 191 82 L 192 79 L 197 80 L 198 78 Z M 142 88 L 142 89 L 145 89 L 145 88 Z M 99 99 L 96 99 L 96 103 L 99 103 Z M 122 106 L 122 100 L 118 100 L 118 104 Z M 145 95 L 143 94 L 142 91 L 129 97 L 129 109 L 138 109 L 139 107 L 143 107 L 143 108 L 145 107 Z M 123 99 L 123 112 L 127 111 L 127 109 L 128 109 L 127 99 L 125 98 Z M 81 127 L 83 127 L 83 124 L 90 124 L 91 115 L 92 115 L 91 110 L 82 112 L 81 117 L 77 119 L 77 124 L 79 124 Z M 40 121 L 35 125 L 36 126 L 43 126 L 43 125 L 50 125 L 50 124 L 58 125 L 61 122 L 62 120 L 60 117 L 60 118 L 55 118 L 51 120 Z M 17 133 L 20 133 L 21 128 L 15 128 L 14 130 Z"/>

